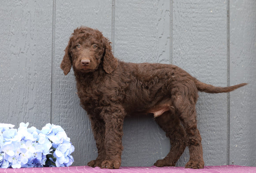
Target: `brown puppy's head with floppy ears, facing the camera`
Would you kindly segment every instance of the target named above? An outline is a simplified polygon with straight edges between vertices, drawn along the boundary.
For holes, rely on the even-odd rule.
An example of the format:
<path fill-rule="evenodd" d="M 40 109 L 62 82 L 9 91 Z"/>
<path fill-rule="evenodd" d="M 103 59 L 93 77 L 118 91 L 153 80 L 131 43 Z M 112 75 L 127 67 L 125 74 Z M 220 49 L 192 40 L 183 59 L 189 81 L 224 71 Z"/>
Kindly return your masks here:
<path fill-rule="evenodd" d="M 60 68 L 67 75 L 73 66 L 74 71 L 93 72 L 102 63 L 107 73 L 117 68 L 117 58 L 112 54 L 110 41 L 97 29 L 80 27 L 74 30 L 66 47 Z"/>

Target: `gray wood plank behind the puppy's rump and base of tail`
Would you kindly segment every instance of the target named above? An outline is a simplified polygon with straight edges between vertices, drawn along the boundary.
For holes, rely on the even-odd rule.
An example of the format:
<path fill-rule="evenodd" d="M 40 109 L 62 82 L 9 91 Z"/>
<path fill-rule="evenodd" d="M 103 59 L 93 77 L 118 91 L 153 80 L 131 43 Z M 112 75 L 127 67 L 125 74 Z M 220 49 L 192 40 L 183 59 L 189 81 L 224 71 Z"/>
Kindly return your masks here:
<path fill-rule="evenodd" d="M 173 64 L 204 83 L 227 85 L 226 0 L 173 1 Z M 227 95 L 199 93 L 205 165 L 226 164 Z M 189 159 L 185 152 L 178 166 Z"/>

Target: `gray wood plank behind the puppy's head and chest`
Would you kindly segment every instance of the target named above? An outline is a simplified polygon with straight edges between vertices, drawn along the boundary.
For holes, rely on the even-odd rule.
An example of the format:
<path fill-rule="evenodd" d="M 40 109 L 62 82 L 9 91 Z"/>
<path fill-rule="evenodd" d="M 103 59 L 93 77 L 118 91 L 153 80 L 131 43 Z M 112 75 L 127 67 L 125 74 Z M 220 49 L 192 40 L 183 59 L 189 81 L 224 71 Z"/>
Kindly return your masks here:
<path fill-rule="evenodd" d="M 97 148 L 88 116 L 75 94 L 73 70 L 64 76 L 60 63 L 69 37 L 81 25 L 99 29 L 111 38 L 112 0 L 57 0 L 55 16 L 52 123 L 62 126 L 75 146 L 73 166 L 82 166 L 96 159 Z"/>

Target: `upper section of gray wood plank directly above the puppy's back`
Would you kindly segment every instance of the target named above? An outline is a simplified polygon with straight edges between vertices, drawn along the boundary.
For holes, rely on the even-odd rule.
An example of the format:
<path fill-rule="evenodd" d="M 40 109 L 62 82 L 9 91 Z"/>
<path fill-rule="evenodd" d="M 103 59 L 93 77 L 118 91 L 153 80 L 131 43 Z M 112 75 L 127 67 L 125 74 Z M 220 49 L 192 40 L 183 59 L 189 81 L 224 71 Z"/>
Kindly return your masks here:
<path fill-rule="evenodd" d="M 131 62 L 170 63 L 169 0 L 117 0 L 115 50 Z"/>

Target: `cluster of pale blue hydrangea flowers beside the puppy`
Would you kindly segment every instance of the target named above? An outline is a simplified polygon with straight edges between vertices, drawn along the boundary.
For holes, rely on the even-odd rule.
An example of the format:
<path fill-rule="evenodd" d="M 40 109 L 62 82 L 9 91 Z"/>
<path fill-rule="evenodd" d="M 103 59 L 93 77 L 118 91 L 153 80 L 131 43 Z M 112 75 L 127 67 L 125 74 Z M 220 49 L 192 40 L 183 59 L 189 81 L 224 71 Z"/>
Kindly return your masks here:
<path fill-rule="evenodd" d="M 60 167 L 74 162 L 74 146 L 65 131 L 54 124 L 42 130 L 29 123 L 0 124 L 0 168 Z"/>

